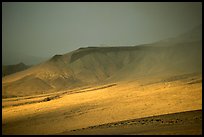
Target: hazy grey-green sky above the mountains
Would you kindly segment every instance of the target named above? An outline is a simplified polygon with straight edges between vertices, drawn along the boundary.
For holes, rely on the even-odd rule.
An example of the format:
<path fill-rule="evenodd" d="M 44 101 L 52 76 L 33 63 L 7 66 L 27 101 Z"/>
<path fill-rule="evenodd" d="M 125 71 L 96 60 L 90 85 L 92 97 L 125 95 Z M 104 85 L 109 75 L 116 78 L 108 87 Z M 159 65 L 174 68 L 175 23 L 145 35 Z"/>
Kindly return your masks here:
<path fill-rule="evenodd" d="M 201 2 L 2 3 L 3 63 L 86 46 L 151 43 L 199 24 Z"/>

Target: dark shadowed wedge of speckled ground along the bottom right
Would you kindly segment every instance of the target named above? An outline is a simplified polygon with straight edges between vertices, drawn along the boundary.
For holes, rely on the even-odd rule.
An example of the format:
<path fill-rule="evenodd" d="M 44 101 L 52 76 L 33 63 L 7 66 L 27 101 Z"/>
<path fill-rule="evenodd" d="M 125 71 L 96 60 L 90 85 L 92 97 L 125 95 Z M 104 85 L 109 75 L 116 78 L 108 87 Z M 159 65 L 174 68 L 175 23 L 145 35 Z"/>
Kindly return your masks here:
<path fill-rule="evenodd" d="M 186 111 L 139 119 L 118 121 L 82 129 L 65 131 L 60 134 L 202 134 L 202 110 Z"/>

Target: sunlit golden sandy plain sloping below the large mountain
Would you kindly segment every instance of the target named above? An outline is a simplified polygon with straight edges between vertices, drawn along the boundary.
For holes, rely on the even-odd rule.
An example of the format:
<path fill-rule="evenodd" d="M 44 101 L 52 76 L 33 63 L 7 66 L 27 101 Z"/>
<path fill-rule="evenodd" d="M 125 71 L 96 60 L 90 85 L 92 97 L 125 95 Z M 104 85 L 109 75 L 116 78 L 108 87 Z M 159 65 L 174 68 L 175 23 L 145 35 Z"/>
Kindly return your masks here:
<path fill-rule="evenodd" d="M 162 79 L 144 78 L 141 81 L 133 80 L 78 89 L 72 93 L 61 91 L 47 96 L 3 99 L 2 105 L 3 134 L 68 133 L 71 130 L 106 123 L 200 110 L 202 76 L 185 74 Z M 191 126 L 198 127 L 197 131 L 191 132 L 192 134 L 200 134 L 199 125 Z M 151 128 L 150 124 L 149 134 L 152 133 Z M 162 129 L 164 133 L 161 134 L 167 133 L 167 128 L 161 128 L 164 128 Z M 188 128 L 184 127 L 186 130 L 181 134 L 190 134 Z M 128 128 L 127 130 L 128 132 L 120 133 L 139 134 L 139 130 L 138 132 L 129 132 Z M 110 132 L 118 133 L 112 130 Z M 174 131 L 168 131 L 168 134 L 173 133 Z M 141 134 L 145 133 L 141 131 Z"/>

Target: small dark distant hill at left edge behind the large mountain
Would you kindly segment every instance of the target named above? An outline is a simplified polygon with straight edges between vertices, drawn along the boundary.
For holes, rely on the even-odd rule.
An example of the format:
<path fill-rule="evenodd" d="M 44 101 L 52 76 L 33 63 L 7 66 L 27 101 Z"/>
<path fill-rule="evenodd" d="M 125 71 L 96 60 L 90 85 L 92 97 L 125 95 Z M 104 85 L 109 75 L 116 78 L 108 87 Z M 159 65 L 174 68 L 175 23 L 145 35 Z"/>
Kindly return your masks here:
<path fill-rule="evenodd" d="M 24 63 L 18 63 L 15 65 L 3 65 L 2 66 L 2 77 L 19 72 L 19 71 L 23 71 L 23 70 L 28 69 L 30 67 L 31 66 L 27 66 Z"/>

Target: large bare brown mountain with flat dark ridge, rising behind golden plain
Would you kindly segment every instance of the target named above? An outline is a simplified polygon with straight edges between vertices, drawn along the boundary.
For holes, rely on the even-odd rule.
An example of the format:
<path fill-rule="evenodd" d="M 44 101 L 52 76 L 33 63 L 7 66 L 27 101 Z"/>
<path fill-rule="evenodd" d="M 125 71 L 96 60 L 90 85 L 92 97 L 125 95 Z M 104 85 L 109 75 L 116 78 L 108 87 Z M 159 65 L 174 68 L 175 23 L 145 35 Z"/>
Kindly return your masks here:
<path fill-rule="evenodd" d="M 3 97 L 154 76 L 202 74 L 202 28 L 153 44 L 79 48 L 3 78 Z"/>

